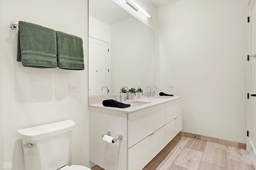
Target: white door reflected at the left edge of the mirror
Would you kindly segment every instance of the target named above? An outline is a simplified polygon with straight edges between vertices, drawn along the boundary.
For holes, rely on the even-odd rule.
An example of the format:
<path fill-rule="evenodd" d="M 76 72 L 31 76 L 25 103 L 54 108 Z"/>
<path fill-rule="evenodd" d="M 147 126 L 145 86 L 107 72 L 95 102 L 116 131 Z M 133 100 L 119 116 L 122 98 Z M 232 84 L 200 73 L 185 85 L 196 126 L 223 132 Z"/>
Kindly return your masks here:
<path fill-rule="evenodd" d="M 89 37 L 89 95 L 106 95 L 109 88 L 108 43 Z"/>

